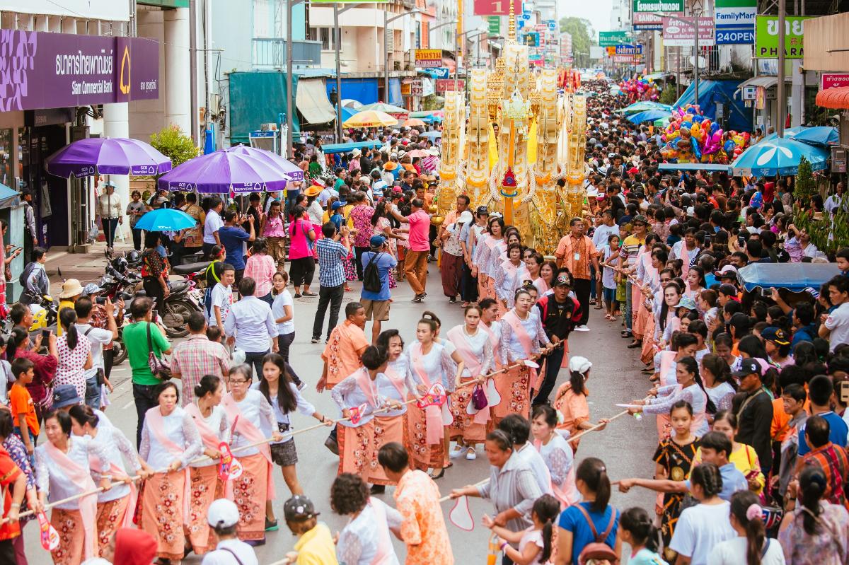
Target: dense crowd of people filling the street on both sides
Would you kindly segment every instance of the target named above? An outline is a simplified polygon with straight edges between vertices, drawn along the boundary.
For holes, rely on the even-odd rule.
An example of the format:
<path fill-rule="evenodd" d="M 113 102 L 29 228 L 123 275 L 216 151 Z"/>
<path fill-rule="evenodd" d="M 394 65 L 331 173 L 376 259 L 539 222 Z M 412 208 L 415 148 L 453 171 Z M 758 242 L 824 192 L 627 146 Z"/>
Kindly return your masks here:
<path fill-rule="evenodd" d="M 481 521 L 490 562 L 849 562 L 849 249 L 826 255 L 793 226 L 793 206 L 807 203 L 793 201 L 790 179 L 660 173 L 654 132 L 611 111 L 627 98 L 605 81 L 583 88 L 587 201 L 556 249 L 534 249 L 496 207 L 472 210 L 464 194 L 435 226 L 437 155 L 409 129 L 350 155 L 299 146 L 310 184 L 252 194 L 242 212 L 192 194 L 133 206 L 194 205 L 199 223 L 166 235 L 170 254 L 160 234 L 139 234 L 147 295 L 132 300 L 131 320 L 75 279 L 56 334 L 33 339 L 31 310 L 8 312 L 0 561 L 28 562 L 20 530 L 49 508 L 54 563 L 179 565 L 194 552 L 207 565 L 251 565 L 285 498 L 298 538 L 288 562 L 391 565 L 401 561 L 394 536 L 406 562 L 447 565 L 441 502 L 462 512 L 471 496 L 492 505 Z M 322 180 L 328 170 L 334 182 Z M 121 204 L 107 197 L 113 230 Z M 172 346 L 155 305 L 175 249 L 212 263 L 203 313 Z M 34 285 L 45 255 L 33 250 Z M 834 262 L 835 277 L 799 294 L 743 288 L 745 266 L 791 261 Z M 443 307 L 462 307 L 463 322 L 441 327 L 430 299 L 414 327 L 393 323 L 393 289 L 406 279 L 424 303 L 434 267 Z M 340 322 L 353 281 L 360 296 Z M 315 382 L 290 355 L 294 299 L 305 296 L 318 297 L 312 343 L 324 338 Z M 622 349 L 642 361 L 627 378 L 644 381 L 644 397 L 616 417 L 655 417 L 652 477 L 611 482 L 616 461 L 577 455 L 593 438 L 582 436 L 612 418 L 591 417 L 593 354 L 570 351 L 568 339 L 602 324 L 621 324 Z M 104 412 L 120 325 L 135 442 Z M 338 413 L 318 411 L 307 384 Z M 316 425 L 295 430 L 295 412 Z M 329 500 L 347 523 L 337 538 L 297 473 L 295 435 L 313 428 L 329 432 L 324 445 L 339 458 Z M 435 481 L 481 455 L 488 478 L 441 497 Z M 276 492 L 275 467 L 288 496 Z M 387 487 L 394 505 L 381 498 Z M 615 488 L 653 490 L 656 506 L 617 509 Z"/>

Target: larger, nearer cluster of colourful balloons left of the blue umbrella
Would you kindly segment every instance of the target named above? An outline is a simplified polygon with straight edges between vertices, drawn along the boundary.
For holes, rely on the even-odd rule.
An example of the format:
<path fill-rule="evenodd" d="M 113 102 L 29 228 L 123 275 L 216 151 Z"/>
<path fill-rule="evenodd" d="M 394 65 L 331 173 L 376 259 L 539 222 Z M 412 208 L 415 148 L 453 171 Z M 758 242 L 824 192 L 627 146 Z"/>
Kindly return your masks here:
<path fill-rule="evenodd" d="M 726 164 L 743 153 L 751 141 L 748 132 L 722 131 L 694 104 L 672 110 L 662 137 L 666 145 L 661 154 L 678 163 Z"/>

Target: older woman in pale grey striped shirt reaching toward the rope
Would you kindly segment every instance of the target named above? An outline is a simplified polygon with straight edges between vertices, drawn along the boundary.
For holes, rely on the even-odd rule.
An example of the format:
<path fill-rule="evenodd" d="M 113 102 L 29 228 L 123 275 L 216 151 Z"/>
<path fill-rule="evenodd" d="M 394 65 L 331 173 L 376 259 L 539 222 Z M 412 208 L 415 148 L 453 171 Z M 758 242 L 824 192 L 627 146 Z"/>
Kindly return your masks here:
<path fill-rule="evenodd" d="M 492 501 L 493 518 L 511 532 L 521 532 L 531 527 L 527 519 L 534 501 L 543 495 L 531 466 L 514 452 L 513 442 L 501 430 L 486 435 L 486 458 L 489 459 L 489 482 L 479 486 L 453 489 L 451 498 L 478 496 Z"/>

